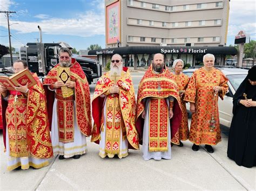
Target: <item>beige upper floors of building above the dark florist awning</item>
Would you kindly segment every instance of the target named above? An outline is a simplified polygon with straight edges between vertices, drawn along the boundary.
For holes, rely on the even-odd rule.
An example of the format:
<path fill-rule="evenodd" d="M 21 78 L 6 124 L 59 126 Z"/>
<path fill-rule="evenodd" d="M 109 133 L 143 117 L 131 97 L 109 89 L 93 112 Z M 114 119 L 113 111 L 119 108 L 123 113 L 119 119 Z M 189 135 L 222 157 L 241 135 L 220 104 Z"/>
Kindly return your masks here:
<path fill-rule="evenodd" d="M 225 46 L 228 0 L 105 0 L 119 2 L 119 46 Z M 106 13 L 106 37 L 109 20 Z"/>

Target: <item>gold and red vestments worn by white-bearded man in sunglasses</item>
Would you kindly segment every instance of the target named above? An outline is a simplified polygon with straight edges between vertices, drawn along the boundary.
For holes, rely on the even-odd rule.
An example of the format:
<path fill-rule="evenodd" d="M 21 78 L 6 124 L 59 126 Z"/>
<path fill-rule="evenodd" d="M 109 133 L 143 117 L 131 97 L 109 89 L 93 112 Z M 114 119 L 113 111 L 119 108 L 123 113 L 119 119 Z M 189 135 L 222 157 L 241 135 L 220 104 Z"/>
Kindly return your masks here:
<path fill-rule="evenodd" d="M 126 70 L 126 72 L 125 72 Z M 136 103 L 130 72 L 124 67 L 122 75 L 116 82 L 119 86 L 119 94 L 110 94 L 109 89 L 114 80 L 110 73 L 105 73 L 97 82 L 92 100 L 92 117 L 94 119 L 91 142 L 99 143 L 100 131 L 105 128 L 105 151 L 118 154 L 120 149 L 120 136 L 126 137 L 129 148 L 139 149 L 138 133 L 135 128 Z M 105 95 L 102 97 L 100 95 Z M 106 127 L 104 127 L 104 100 L 106 104 Z M 120 135 L 120 132 L 123 135 Z"/>

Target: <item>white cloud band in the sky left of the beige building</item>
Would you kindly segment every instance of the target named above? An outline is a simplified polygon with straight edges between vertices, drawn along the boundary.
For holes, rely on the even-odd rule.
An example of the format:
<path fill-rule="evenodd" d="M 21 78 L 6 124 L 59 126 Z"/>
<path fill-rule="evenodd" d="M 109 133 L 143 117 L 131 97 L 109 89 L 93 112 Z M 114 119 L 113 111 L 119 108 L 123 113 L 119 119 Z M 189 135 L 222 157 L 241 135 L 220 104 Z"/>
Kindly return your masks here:
<path fill-rule="evenodd" d="M 11 3 L 8 0 L 0 0 L 6 3 L 6 6 L 10 6 Z M 23 22 L 22 20 L 11 20 L 10 23 L 19 23 L 19 25 L 12 25 L 12 30 L 18 31 L 18 33 L 31 33 L 38 32 L 37 26 L 41 26 L 43 33 L 46 34 L 66 34 L 80 37 L 90 37 L 97 34 L 105 34 L 105 15 L 104 1 L 97 0 L 92 1 L 95 3 L 95 8 L 101 9 L 100 11 L 87 11 L 84 14 L 76 15 L 75 18 L 63 19 L 63 18 L 50 18 L 48 15 L 39 14 L 33 17 L 42 19 L 37 22 Z M 27 10 L 26 10 L 27 11 Z M 25 13 L 25 10 L 22 12 Z M 6 19 L 0 23 L 0 26 L 6 27 Z"/>

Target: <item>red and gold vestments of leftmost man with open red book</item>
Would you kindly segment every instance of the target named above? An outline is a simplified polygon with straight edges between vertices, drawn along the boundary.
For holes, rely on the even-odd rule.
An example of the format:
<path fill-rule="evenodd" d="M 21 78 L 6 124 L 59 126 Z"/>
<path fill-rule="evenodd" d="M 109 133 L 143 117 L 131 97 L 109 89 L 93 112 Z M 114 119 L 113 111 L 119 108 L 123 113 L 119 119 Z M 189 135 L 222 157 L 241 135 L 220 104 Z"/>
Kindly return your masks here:
<path fill-rule="evenodd" d="M 9 132 L 9 145 L 6 146 L 10 147 L 12 157 L 33 155 L 36 158 L 51 158 L 53 152 L 44 88 L 36 73 L 33 77 L 37 84 L 29 88 L 28 97 L 9 91 L 8 107 L 3 110 Z"/>

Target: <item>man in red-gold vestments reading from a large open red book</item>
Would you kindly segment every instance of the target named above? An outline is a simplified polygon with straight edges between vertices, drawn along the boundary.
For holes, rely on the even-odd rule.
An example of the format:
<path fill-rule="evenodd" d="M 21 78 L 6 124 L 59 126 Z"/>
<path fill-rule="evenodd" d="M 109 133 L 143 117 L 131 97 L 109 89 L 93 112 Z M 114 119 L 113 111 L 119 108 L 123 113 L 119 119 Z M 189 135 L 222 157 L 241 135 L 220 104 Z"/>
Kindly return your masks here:
<path fill-rule="evenodd" d="M 26 61 L 17 60 L 14 63 L 15 73 L 25 68 L 28 68 Z M 28 84 L 18 84 L 16 91 L 8 91 L 0 86 L 9 171 L 18 167 L 28 169 L 29 166 L 42 168 L 53 157 L 45 92 L 36 73 L 33 77 L 37 84 L 31 88 Z M 7 108 L 4 102 L 8 102 Z"/>

